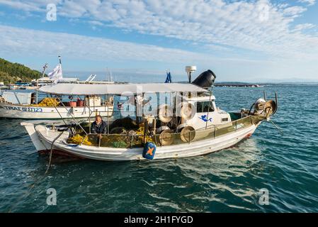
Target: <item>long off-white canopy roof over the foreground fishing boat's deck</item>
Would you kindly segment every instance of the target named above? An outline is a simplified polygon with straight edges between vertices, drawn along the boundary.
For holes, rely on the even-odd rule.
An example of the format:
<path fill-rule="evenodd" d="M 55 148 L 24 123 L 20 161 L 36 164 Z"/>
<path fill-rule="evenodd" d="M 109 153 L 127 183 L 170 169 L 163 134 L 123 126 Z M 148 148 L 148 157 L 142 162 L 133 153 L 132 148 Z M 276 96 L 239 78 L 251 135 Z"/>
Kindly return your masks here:
<path fill-rule="evenodd" d="M 194 84 L 148 83 L 148 84 L 55 84 L 40 87 L 39 92 L 68 95 L 142 94 L 167 92 L 207 92 Z"/>

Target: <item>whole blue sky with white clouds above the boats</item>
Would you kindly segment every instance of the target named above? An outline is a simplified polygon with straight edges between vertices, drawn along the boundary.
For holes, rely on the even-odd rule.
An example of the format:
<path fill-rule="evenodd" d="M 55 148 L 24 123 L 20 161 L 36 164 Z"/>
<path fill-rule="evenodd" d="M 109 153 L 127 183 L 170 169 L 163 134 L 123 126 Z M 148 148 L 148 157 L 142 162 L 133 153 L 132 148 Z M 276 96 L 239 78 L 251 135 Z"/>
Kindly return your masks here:
<path fill-rule="evenodd" d="M 0 57 L 67 76 L 318 82 L 316 0 L 0 0 Z"/>

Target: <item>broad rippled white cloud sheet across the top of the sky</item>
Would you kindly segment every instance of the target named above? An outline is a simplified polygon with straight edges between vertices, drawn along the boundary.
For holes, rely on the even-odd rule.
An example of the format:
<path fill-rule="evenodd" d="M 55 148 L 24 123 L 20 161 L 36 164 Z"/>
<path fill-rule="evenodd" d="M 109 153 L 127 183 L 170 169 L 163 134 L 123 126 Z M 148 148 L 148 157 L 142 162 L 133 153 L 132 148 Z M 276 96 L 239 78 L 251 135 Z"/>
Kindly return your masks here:
<path fill-rule="evenodd" d="M 0 4 L 42 11 L 48 1 L 3 1 Z M 52 1 L 52 0 L 51 0 Z M 50 2 L 51 2 L 50 1 Z M 305 2 L 305 0 L 301 0 Z M 188 40 L 207 47 L 227 46 L 276 57 L 307 57 L 318 52 L 318 38 L 293 30 L 291 23 L 307 9 L 269 0 L 109 0 L 54 1 L 58 16 L 94 21 L 125 31 Z M 307 0 L 314 4 L 313 0 Z M 313 49 L 314 48 L 314 49 Z M 314 55 L 316 56 L 316 55 Z"/>

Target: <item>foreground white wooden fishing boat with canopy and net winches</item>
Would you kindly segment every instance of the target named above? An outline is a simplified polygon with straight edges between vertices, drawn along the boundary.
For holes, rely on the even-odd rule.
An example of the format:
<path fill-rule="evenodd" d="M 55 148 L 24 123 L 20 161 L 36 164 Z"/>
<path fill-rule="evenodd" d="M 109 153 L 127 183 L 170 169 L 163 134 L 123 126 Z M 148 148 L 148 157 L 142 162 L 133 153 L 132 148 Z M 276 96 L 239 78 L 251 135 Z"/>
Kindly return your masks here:
<path fill-rule="evenodd" d="M 215 104 L 215 74 L 205 71 L 189 83 L 56 84 L 41 87 L 50 95 L 118 95 L 120 118 L 107 133 L 91 133 L 91 120 L 73 124 L 23 122 L 39 153 L 92 160 L 125 161 L 191 157 L 229 148 L 249 138 L 277 111 L 276 100 L 257 99 L 249 109 L 227 113 Z M 152 97 L 152 98 L 151 98 Z M 130 114 L 125 114 L 127 109 Z M 132 116 L 131 110 L 134 115 Z M 90 116 L 99 113 L 92 111 Z"/>

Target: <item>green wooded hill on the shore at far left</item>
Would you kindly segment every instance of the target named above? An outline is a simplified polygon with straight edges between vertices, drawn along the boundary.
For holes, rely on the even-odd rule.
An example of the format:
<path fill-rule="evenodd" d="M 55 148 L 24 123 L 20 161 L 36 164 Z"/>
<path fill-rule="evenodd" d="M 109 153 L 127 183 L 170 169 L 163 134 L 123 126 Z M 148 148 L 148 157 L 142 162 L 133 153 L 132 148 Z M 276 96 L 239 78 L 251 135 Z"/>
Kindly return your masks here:
<path fill-rule="evenodd" d="M 0 82 L 4 82 L 4 84 L 12 84 L 19 80 L 30 82 L 32 79 L 38 79 L 41 76 L 41 72 L 0 58 Z"/>

